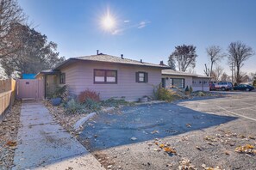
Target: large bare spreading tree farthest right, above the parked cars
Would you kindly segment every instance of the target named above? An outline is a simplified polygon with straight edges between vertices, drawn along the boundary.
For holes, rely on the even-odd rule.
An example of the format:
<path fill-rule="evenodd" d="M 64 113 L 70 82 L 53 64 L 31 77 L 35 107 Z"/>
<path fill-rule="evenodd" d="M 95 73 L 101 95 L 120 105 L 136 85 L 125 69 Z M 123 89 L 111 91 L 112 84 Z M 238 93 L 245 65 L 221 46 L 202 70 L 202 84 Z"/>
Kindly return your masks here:
<path fill-rule="evenodd" d="M 241 82 L 241 67 L 244 65 L 244 62 L 253 55 L 253 49 L 240 41 L 232 42 L 228 46 L 228 61 L 229 63 L 234 62 L 234 66 L 236 67 L 234 77 L 237 83 Z"/>

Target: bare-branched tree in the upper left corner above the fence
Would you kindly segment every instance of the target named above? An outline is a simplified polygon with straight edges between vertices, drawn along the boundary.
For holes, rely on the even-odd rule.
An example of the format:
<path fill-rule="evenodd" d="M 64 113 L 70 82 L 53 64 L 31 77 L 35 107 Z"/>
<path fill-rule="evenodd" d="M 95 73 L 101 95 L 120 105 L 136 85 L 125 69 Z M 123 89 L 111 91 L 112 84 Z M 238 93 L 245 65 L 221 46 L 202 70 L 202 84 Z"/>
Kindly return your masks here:
<path fill-rule="evenodd" d="M 20 35 L 13 30 L 16 23 L 26 20 L 21 7 L 16 0 L 1 0 L 0 2 L 0 59 L 12 52 L 17 52 L 21 46 Z"/>

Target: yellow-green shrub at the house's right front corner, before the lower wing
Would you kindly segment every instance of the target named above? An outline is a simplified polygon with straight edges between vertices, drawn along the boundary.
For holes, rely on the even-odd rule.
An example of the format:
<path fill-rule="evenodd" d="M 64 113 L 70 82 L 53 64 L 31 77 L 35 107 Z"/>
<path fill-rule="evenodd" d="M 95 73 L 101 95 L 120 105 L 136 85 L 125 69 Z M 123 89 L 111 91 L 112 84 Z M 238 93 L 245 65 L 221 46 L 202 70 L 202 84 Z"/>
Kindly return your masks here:
<path fill-rule="evenodd" d="M 154 89 L 154 95 L 155 95 L 156 100 L 167 100 L 167 101 L 173 100 L 172 91 L 170 91 L 166 88 L 162 88 L 161 84 L 159 84 L 159 86 L 157 86 Z"/>

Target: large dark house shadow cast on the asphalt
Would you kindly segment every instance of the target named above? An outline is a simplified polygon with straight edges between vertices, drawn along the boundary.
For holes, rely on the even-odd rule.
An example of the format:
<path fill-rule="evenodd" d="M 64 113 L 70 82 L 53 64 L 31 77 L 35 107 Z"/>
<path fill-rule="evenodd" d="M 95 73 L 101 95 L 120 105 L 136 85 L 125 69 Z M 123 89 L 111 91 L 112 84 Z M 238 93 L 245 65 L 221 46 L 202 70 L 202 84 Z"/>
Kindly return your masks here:
<path fill-rule="evenodd" d="M 197 112 L 170 103 L 126 106 L 121 113 L 101 113 L 84 127 L 80 139 L 92 151 L 171 137 L 224 124 L 235 117 Z M 133 141 L 131 138 L 135 137 Z"/>

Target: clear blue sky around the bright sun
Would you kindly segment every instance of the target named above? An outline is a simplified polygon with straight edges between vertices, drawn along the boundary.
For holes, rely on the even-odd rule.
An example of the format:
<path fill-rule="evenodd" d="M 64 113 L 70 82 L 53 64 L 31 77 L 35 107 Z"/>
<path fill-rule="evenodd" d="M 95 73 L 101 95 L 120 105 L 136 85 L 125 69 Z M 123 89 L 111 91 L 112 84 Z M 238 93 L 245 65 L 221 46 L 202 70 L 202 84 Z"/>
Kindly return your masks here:
<path fill-rule="evenodd" d="M 22 0 L 35 29 L 58 44 L 66 58 L 100 52 L 159 64 L 178 45 L 197 46 L 196 72 L 208 64 L 205 48 L 226 52 L 240 40 L 256 51 L 255 0 Z M 112 31 L 103 29 L 107 11 L 116 18 Z M 230 73 L 226 60 L 220 64 Z M 242 71 L 256 72 L 256 56 Z"/>

